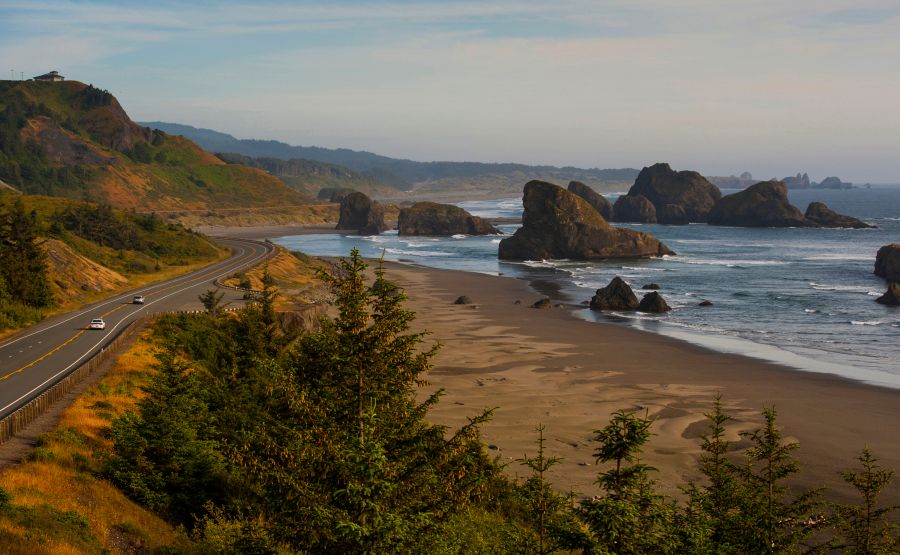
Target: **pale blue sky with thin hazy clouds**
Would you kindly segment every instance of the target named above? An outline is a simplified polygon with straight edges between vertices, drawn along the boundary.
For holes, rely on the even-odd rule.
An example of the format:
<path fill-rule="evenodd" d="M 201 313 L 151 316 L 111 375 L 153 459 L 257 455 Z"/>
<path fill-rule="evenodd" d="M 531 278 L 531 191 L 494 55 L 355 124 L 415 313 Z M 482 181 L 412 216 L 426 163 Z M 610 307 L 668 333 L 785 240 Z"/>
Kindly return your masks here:
<path fill-rule="evenodd" d="M 900 0 L 0 0 L 0 77 L 51 69 L 238 138 L 900 183 Z"/>

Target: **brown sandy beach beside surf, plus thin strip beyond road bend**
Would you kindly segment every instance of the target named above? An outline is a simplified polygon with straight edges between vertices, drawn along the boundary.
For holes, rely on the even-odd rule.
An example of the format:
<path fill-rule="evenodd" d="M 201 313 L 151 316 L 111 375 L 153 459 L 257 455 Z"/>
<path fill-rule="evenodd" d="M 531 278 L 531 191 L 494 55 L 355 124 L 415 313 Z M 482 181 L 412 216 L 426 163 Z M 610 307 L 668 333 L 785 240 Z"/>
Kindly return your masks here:
<path fill-rule="evenodd" d="M 262 226 L 214 232 L 274 238 L 337 231 Z M 763 408 L 774 405 L 785 440 L 800 442 L 803 471 L 796 483 L 828 484 L 833 499 L 850 492 L 837 472 L 854 468 L 865 446 L 885 467 L 900 471 L 900 390 L 588 321 L 575 313 L 583 307 L 532 309 L 543 295 L 511 276 L 401 262 L 385 267 L 410 297 L 408 307 L 417 315 L 413 330 L 428 330 L 430 339 L 444 344 L 422 391 L 446 392 L 430 419 L 458 427 L 483 408 L 499 406 L 483 439 L 491 454 L 512 463 L 511 475 L 526 475 L 514 460 L 534 455 L 534 427 L 543 423 L 547 455 L 563 458 L 550 472 L 554 486 L 596 494 L 592 431 L 624 408 L 656 419 L 644 459 L 660 470 L 661 491 L 677 496 L 678 485 L 698 477 L 703 413 L 717 393 L 734 417 L 728 439 L 737 447 L 746 446 L 739 432 L 756 429 Z M 460 295 L 475 304 L 452 304 Z M 886 490 L 883 501 L 900 501 L 898 489 L 895 483 Z"/>

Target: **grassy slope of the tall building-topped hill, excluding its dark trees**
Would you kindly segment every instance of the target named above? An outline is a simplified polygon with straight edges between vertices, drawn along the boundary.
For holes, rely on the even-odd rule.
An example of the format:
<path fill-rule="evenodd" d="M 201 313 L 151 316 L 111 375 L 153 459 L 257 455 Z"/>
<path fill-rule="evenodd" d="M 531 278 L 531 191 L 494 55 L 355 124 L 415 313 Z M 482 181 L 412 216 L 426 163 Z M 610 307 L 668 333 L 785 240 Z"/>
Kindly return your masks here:
<path fill-rule="evenodd" d="M 87 85 L 75 81 L 0 84 L 0 110 L 14 103 L 52 120 L 48 123 L 37 115 L 30 117 L 29 137 L 40 142 L 40 131 L 55 124 L 62 129 L 57 136 L 67 136 L 58 142 L 78 143 L 104 160 L 102 163 L 47 160 L 49 166 L 78 166 L 80 171 L 89 174 L 80 178 L 83 181 L 80 186 L 54 187 L 58 191 L 54 194 L 88 195 L 113 206 L 137 210 L 296 206 L 307 200 L 262 170 L 225 164 L 183 137 L 154 136 L 128 119 L 115 99 L 107 105 L 86 108 L 83 101 L 86 89 Z M 138 144 L 144 150 L 142 157 L 135 157 L 132 152 Z M 47 151 L 48 145 L 43 146 Z M 9 176 L 0 175 L 0 178 L 29 190 L 27 180 L 14 183 Z"/>

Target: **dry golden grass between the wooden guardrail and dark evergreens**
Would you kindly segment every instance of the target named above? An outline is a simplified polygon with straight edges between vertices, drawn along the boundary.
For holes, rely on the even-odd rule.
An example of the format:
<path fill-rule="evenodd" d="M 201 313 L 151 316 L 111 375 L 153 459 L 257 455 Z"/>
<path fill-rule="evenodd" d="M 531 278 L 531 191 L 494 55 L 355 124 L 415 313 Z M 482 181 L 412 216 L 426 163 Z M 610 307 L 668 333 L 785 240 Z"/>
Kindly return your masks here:
<path fill-rule="evenodd" d="M 0 553 L 188 548 L 183 534 L 98 477 L 111 449 L 105 430 L 113 417 L 135 407 L 154 363 L 145 332 L 100 383 L 66 409 L 28 461 L 0 472 L 0 487 L 12 495 L 13 506 L 0 511 Z M 73 514 L 87 526 L 73 532 Z"/>

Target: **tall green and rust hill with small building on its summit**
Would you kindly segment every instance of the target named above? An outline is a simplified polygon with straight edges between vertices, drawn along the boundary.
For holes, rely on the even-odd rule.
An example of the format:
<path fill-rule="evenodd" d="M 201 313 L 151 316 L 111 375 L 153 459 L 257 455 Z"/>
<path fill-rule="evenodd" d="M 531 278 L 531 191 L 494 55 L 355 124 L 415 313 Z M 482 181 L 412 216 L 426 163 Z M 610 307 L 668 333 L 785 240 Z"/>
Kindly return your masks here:
<path fill-rule="evenodd" d="M 137 125 L 109 92 L 77 81 L 0 81 L 0 180 L 145 211 L 309 200 L 265 171 Z"/>

